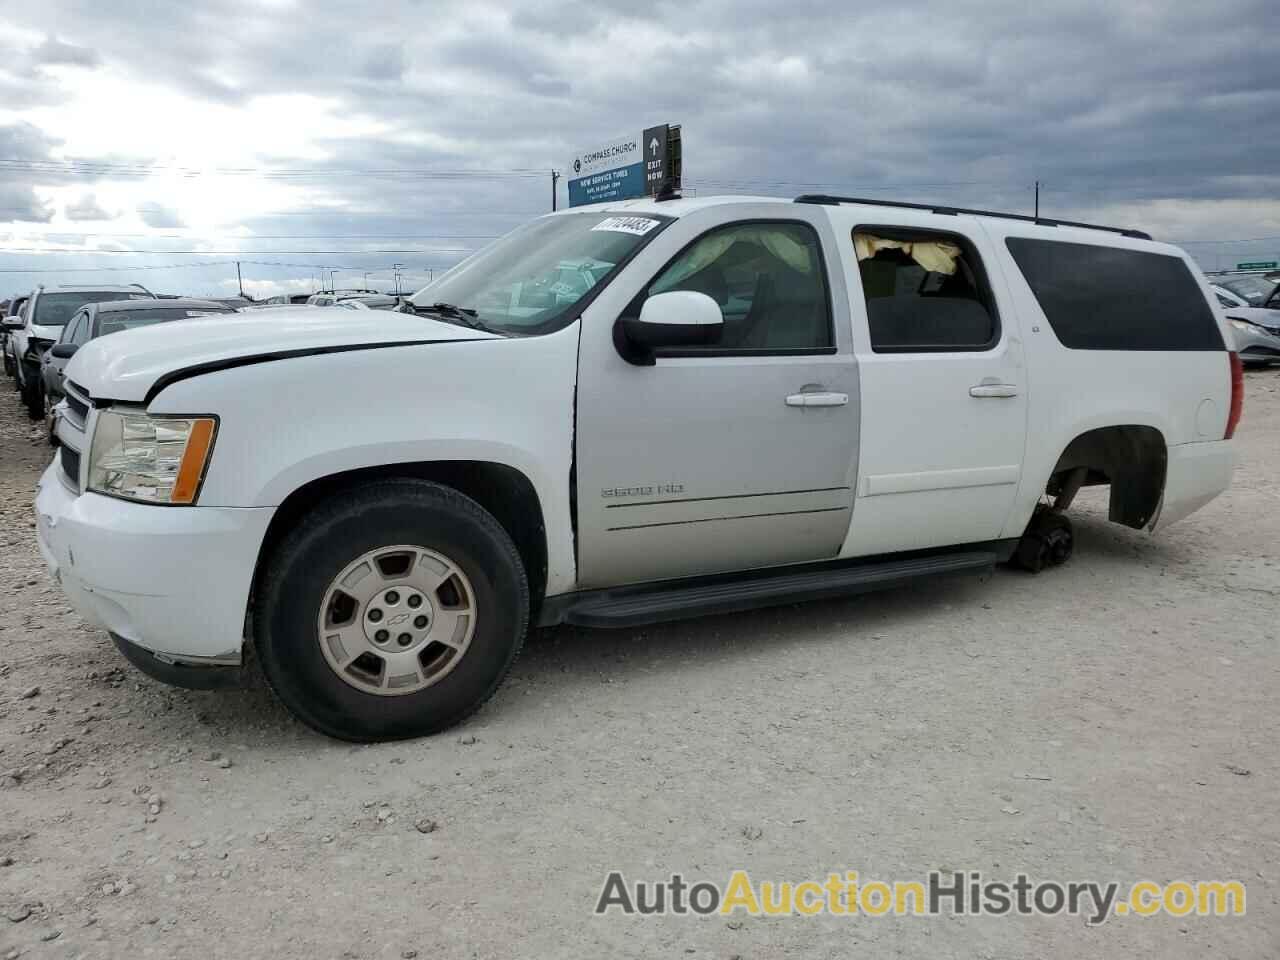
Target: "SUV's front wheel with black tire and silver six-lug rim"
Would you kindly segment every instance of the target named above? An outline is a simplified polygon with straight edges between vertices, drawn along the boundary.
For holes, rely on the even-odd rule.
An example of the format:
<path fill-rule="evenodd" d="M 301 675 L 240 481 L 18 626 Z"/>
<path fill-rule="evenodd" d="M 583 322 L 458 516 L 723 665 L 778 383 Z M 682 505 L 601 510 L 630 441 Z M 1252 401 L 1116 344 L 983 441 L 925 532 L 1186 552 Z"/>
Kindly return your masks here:
<path fill-rule="evenodd" d="M 397 573 L 388 566 L 413 550 L 420 556 L 404 559 L 410 572 Z M 374 559 L 366 561 L 369 557 Z M 404 616 L 392 616 L 389 607 L 384 613 L 378 598 L 389 596 L 392 589 L 411 594 L 408 586 L 396 588 L 408 584 L 397 577 L 415 575 L 420 561 L 424 570 L 428 563 L 433 570 L 438 563 L 452 564 L 458 576 L 451 573 L 440 590 L 448 591 L 454 605 L 447 607 L 449 600 L 442 602 L 440 593 L 433 596 L 431 589 L 424 588 L 419 602 L 425 600 L 433 613 L 430 630 L 415 641 L 424 646 L 406 653 L 374 649 L 374 613 L 379 621 L 385 617 L 387 626 L 411 613 L 404 608 Z M 379 585 L 374 599 L 357 602 L 346 594 L 344 585 L 352 582 L 357 566 L 369 566 L 376 577 L 370 581 Z M 383 567 L 392 573 L 385 575 Z M 365 581 L 355 582 L 360 588 Z M 268 558 L 255 595 L 256 654 L 273 690 L 312 730 L 357 742 L 425 736 L 460 723 L 498 689 L 529 628 L 529 581 L 507 531 L 470 497 L 424 480 L 372 483 L 310 511 Z M 353 609 L 352 603 L 357 604 Z M 346 609 L 335 617 L 340 607 Z M 451 609 L 470 609 L 470 614 Z M 447 621 L 447 616 L 453 620 Z M 422 617 L 392 630 L 408 628 L 417 620 Z M 325 626 L 330 621 L 344 625 Z M 463 621 L 470 634 L 461 649 L 429 641 L 438 625 Z M 397 634 L 384 643 L 389 648 L 406 636 Z M 458 630 L 449 636 L 457 641 Z M 366 652 L 339 669 L 338 662 L 361 646 Z M 412 675 L 402 669 L 392 676 L 389 664 L 404 663 L 410 655 L 417 658 L 412 682 L 421 684 L 424 675 L 435 672 L 425 678 L 425 687 L 397 692 L 392 686 Z M 375 662 L 380 657 L 378 677 Z"/>

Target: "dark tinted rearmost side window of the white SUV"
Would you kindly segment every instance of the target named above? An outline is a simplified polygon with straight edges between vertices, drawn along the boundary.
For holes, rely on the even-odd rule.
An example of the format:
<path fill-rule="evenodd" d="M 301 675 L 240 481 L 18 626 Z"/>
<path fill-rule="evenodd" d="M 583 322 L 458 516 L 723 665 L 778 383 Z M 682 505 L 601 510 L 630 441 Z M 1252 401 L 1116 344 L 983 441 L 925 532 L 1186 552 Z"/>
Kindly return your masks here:
<path fill-rule="evenodd" d="M 1180 257 L 1025 237 L 1006 243 L 1064 347 L 1225 349 Z"/>

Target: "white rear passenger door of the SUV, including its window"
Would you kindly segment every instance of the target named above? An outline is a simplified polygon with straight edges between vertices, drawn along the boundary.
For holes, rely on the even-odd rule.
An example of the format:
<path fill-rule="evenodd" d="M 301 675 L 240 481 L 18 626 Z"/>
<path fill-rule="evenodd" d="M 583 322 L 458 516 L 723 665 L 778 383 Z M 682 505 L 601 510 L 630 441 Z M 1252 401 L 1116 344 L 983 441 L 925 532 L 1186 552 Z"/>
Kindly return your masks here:
<path fill-rule="evenodd" d="M 863 394 L 846 557 L 998 539 L 1027 434 L 1021 337 L 980 224 L 886 214 L 838 211 Z"/>

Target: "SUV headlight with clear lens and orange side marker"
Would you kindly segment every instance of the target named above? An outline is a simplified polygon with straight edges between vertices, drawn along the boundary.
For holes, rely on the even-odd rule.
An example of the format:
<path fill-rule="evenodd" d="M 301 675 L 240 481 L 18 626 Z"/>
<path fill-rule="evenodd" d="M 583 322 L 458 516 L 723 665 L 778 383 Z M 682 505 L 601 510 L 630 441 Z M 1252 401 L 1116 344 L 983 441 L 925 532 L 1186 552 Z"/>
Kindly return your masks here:
<path fill-rule="evenodd" d="M 142 503 L 195 503 L 214 448 L 212 417 L 97 415 L 88 489 Z"/>

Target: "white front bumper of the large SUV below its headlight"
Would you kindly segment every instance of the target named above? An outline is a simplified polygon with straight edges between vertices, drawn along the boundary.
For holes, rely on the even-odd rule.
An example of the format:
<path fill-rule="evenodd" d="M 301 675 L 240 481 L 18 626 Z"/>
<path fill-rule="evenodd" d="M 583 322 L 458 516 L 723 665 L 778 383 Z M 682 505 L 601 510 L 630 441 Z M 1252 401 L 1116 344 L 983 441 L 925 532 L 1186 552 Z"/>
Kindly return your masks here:
<path fill-rule="evenodd" d="M 166 666 L 236 667 L 273 512 L 77 495 L 55 460 L 37 486 L 36 532 L 72 605 L 118 643 Z"/>

